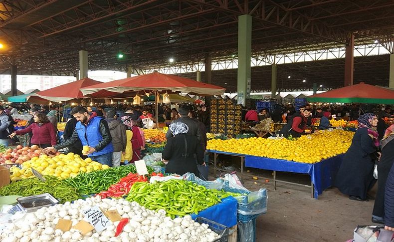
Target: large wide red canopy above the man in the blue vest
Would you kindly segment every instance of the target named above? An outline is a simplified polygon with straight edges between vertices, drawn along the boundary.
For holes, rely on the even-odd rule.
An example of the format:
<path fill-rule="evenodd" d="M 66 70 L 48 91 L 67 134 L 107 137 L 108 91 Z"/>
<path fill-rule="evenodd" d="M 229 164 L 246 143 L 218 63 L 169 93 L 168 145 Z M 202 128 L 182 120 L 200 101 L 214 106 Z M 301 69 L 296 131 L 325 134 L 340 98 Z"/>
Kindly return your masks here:
<path fill-rule="evenodd" d="M 224 93 L 225 88 L 180 76 L 153 72 L 150 74 L 110 81 L 89 87 L 82 87 L 80 90 L 84 95 L 91 95 L 91 97 L 98 98 L 110 97 L 111 95 L 127 91 L 142 91 L 141 95 L 144 95 L 144 92 L 162 92 L 166 90 L 199 95 L 220 95 Z"/>

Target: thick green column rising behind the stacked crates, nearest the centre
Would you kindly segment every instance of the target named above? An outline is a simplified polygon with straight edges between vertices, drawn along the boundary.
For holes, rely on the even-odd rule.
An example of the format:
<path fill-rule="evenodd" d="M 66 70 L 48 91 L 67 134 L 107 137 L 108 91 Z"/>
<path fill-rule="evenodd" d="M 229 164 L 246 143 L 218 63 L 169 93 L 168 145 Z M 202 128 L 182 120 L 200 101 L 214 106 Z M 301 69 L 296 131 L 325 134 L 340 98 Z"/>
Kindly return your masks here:
<path fill-rule="evenodd" d="M 250 82 L 250 58 L 252 49 L 252 16 L 238 17 L 238 104 L 246 105 L 248 81 Z"/>

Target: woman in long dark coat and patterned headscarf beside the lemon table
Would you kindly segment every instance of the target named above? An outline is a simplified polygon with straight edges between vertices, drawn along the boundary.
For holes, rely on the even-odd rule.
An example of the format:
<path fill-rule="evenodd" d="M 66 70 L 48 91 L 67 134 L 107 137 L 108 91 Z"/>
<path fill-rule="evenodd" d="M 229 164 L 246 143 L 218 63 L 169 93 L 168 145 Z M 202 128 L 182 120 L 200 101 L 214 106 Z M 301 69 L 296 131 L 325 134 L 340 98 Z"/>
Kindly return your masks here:
<path fill-rule="evenodd" d="M 379 147 L 376 126 L 378 119 L 373 113 L 359 117 L 359 128 L 353 136 L 352 145 L 343 157 L 335 186 L 349 195 L 349 199 L 366 202 L 367 192 L 374 186 L 374 153 Z"/>

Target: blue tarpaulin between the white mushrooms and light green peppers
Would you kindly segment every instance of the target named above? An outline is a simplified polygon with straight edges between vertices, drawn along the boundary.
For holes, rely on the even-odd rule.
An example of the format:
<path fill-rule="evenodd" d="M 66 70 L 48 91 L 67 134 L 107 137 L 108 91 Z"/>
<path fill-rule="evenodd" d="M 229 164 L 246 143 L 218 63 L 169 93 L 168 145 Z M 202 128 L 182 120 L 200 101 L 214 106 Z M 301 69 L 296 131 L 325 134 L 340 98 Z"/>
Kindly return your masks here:
<path fill-rule="evenodd" d="M 235 198 L 227 197 L 222 199 L 221 203 L 199 212 L 198 215 L 192 214 L 191 216 L 194 220 L 197 217 L 203 217 L 230 228 L 237 224 L 237 204 Z"/>

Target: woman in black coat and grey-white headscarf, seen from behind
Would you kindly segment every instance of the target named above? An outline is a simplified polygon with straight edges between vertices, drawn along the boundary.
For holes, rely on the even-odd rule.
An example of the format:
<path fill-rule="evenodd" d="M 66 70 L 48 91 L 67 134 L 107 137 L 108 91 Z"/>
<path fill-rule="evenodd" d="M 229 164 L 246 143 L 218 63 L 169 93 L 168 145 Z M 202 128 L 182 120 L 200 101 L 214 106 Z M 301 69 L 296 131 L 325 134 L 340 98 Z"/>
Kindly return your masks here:
<path fill-rule="evenodd" d="M 204 150 L 200 141 L 194 135 L 187 135 L 188 125 L 175 122 L 169 127 L 174 137 L 167 140 L 163 150 L 163 159 L 167 173 L 184 175 L 187 172 L 194 173 L 199 177 L 197 163 L 204 164 Z"/>

